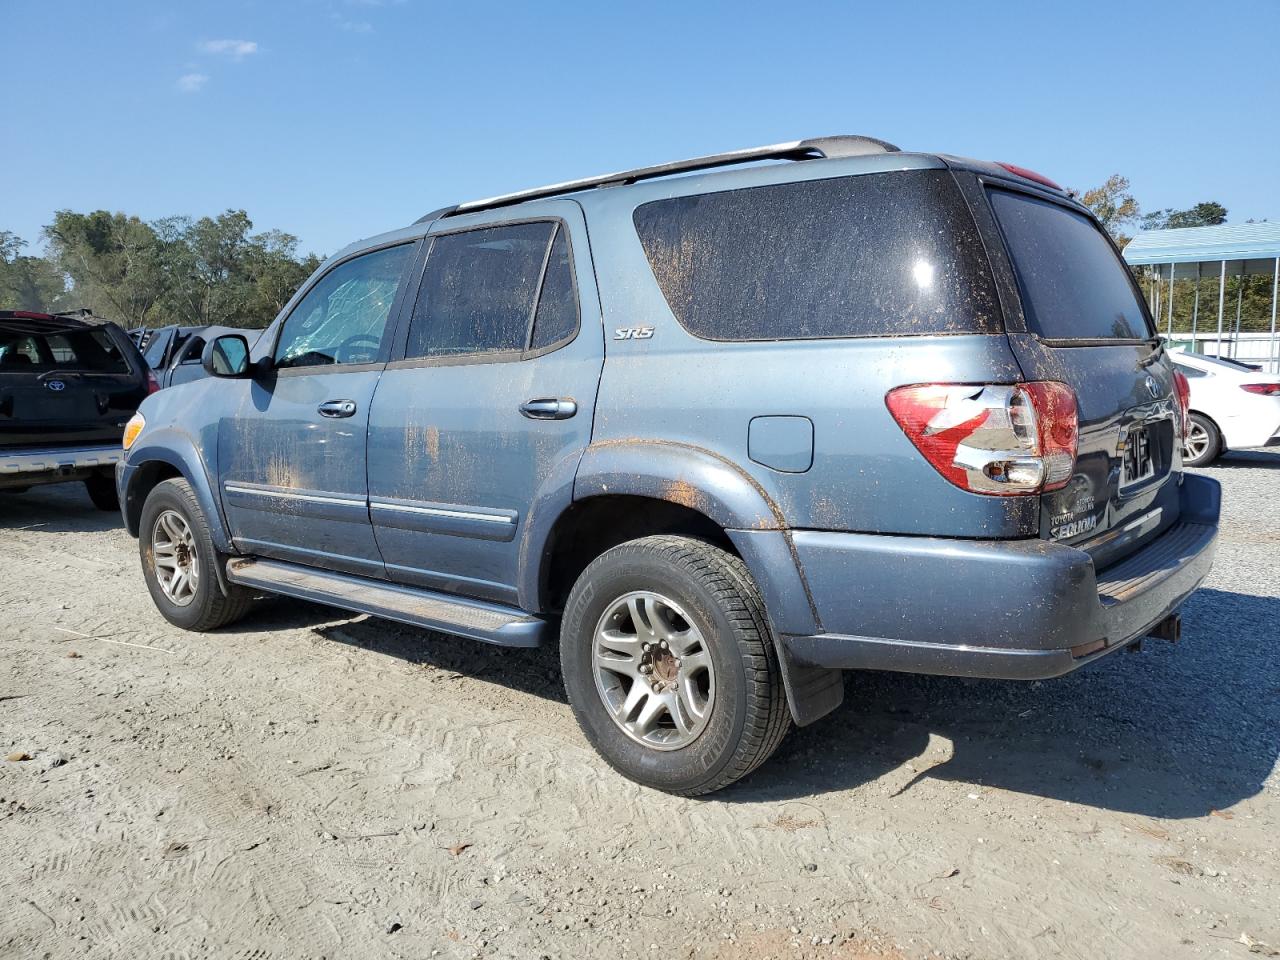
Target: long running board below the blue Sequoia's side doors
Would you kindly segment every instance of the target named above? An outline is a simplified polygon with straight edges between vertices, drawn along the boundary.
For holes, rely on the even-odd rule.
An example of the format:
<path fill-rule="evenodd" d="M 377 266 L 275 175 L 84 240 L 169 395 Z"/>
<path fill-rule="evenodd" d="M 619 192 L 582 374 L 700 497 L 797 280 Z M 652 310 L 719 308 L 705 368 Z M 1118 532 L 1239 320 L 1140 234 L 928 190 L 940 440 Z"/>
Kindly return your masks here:
<path fill-rule="evenodd" d="M 548 626 L 547 621 L 515 607 L 259 557 L 229 559 L 227 579 L 255 590 L 326 603 L 500 646 L 538 646 Z"/>

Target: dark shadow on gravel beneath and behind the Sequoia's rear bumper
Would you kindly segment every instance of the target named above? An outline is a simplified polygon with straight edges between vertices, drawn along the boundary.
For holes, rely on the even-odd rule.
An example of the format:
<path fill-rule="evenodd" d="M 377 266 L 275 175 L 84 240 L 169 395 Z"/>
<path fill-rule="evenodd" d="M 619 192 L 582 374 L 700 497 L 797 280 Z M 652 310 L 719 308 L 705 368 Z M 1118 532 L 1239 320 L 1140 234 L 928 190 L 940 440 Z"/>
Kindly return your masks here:
<path fill-rule="evenodd" d="M 1148 641 L 1033 684 L 846 675 L 845 705 L 791 733 L 717 800 L 855 787 L 915 760 L 922 780 L 1192 818 L 1258 794 L 1280 756 L 1280 599 L 1201 590 L 1178 646 Z M 950 746 L 931 735 L 950 741 Z M 943 751 L 937 751 L 937 746 Z M 918 759 L 916 759 L 918 758 Z"/>

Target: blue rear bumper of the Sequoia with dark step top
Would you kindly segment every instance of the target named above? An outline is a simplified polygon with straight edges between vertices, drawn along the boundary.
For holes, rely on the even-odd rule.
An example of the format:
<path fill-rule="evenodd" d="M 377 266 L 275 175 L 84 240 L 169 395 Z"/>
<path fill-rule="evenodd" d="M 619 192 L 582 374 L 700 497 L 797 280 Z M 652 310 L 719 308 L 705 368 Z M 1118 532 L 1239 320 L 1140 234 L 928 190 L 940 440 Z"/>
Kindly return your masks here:
<path fill-rule="evenodd" d="M 1146 636 L 1208 575 L 1217 481 L 1185 475 L 1179 522 L 1101 572 L 1043 540 L 797 531 L 822 632 L 796 662 L 963 677 L 1056 677 Z"/>

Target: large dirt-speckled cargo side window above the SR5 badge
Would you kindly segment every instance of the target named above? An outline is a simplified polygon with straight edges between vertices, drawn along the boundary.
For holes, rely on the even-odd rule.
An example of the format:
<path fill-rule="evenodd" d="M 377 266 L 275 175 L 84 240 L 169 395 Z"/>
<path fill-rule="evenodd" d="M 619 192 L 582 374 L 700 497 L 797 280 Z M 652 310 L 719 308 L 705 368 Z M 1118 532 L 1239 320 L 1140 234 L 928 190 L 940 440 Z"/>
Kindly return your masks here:
<path fill-rule="evenodd" d="M 696 337 L 1001 332 L 977 228 L 945 170 L 658 200 L 634 220 L 667 303 Z"/>

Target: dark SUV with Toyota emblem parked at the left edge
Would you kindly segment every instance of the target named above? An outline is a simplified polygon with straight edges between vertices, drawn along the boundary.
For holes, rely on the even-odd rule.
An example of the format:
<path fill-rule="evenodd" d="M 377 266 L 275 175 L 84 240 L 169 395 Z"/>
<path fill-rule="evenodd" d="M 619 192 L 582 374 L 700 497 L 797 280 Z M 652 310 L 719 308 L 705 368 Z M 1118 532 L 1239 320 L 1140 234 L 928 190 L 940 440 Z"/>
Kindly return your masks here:
<path fill-rule="evenodd" d="M 118 509 L 124 424 L 155 389 L 115 324 L 0 310 L 0 490 L 81 480 Z"/>

